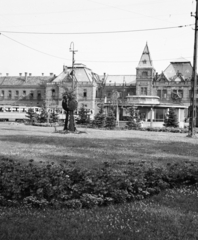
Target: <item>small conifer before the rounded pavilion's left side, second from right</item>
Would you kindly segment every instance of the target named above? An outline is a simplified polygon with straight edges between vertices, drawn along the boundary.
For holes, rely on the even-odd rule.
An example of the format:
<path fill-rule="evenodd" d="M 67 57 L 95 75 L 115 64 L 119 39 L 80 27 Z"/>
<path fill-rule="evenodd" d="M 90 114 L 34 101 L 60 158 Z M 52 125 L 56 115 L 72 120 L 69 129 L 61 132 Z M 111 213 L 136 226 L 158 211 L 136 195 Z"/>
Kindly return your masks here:
<path fill-rule="evenodd" d="M 126 123 L 128 129 L 138 129 L 141 127 L 140 113 L 135 106 L 128 108 L 130 114 L 129 121 Z"/>

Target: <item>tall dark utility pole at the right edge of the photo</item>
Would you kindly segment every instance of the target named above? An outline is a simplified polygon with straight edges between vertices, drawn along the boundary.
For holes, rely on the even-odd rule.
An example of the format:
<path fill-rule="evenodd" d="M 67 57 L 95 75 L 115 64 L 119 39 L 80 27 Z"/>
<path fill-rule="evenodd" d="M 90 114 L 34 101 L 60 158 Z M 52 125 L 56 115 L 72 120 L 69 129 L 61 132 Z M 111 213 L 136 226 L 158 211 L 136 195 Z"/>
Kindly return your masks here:
<path fill-rule="evenodd" d="M 193 77 L 191 81 L 191 99 L 189 107 L 189 137 L 196 134 L 196 94 L 197 94 L 197 31 L 198 31 L 198 0 L 196 0 L 195 17 L 195 39 L 194 39 L 194 58 L 193 58 Z"/>

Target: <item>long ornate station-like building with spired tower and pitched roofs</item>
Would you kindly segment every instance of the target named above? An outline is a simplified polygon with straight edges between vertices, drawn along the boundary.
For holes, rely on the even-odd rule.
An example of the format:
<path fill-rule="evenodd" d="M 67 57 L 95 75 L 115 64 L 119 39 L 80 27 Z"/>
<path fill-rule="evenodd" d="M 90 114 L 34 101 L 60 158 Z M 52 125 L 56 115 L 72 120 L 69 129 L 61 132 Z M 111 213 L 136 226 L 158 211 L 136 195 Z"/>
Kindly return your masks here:
<path fill-rule="evenodd" d="M 175 108 L 179 124 L 185 124 L 191 98 L 192 65 L 185 59 L 170 62 L 158 74 L 153 66 L 148 44 L 144 47 L 136 75 L 99 76 L 85 65 L 63 66 L 58 75 L 0 76 L 0 105 L 38 106 L 62 109 L 65 89 L 73 89 L 78 108 L 84 106 L 94 116 L 101 104 L 106 109 L 116 105 L 117 120 L 126 121 L 127 108 L 135 105 L 145 126 L 163 126 L 169 108 Z"/>

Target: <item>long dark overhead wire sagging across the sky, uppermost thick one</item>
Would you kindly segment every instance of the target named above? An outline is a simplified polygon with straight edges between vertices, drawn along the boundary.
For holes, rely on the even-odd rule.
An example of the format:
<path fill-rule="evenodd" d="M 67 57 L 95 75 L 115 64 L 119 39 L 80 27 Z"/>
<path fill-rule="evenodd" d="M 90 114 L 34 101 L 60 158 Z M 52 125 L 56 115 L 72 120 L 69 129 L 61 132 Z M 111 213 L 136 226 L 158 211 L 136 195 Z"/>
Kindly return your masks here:
<path fill-rule="evenodd" d="M 161 27 L 161 28 L 145 28 L 145 29 L 132 29 L 132 30 L 120 30 L 120 31 L 106 31 L 106 32 L 17 32 L 17 31 L 4 31 L 0 30 L 2 33 L 15 33 L 15 34 L 43 34 L 43 35 L 86 35 L 86 34 L 111 34 L 111 33 L 131 33 L 131 32 L 147 32 L 147 31 L 159 31 L 159 30 L 169 30 L 176 28 L 185 28 L 194 26 L 194 24 L 172 26 L 172 27 Z"/>

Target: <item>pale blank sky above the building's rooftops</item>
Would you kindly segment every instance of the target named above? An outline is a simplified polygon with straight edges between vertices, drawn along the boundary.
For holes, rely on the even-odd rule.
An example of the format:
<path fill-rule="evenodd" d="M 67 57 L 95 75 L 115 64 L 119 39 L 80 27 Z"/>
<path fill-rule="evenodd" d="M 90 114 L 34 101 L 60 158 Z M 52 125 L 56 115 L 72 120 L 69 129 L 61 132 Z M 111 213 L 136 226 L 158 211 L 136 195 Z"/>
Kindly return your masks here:
<path fill-rule="evenodd" d="M 135 74 L 146 42 L 159 73 L 177 58 L 192 63 L 194 26 L 177 26 L 194 24 L 195 5 L 195 0 L 1 0 L 0 73 L 58 75 L 63 65 L 71 66 L 71 42 L 76 62 L 97 74 Z M 133 31 L 158 28 L 165 29 Z M 104 33 L 112 31 L 120 33 Z"/>

